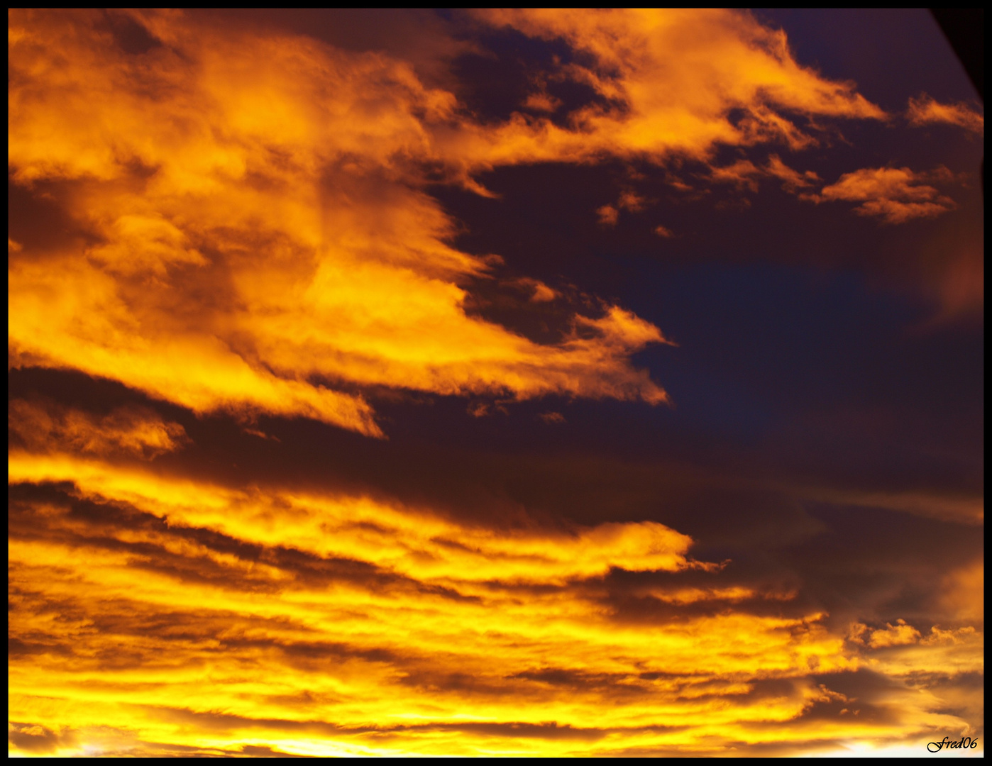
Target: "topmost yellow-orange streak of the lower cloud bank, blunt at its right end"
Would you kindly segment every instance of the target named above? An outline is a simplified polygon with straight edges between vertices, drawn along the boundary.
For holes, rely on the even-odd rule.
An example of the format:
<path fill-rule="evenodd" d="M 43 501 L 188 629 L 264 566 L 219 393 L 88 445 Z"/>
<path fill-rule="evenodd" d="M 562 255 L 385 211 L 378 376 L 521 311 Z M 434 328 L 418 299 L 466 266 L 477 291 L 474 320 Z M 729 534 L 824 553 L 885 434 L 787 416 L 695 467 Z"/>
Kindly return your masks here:
<path fill-rule="evenodd" d="M 422 581 L 561 584 L 601 577 L 612 567 L 679 571 L 690 566 L 684 555 L 690 539 L 650 521 L 605 523 L 572 533 L 496 534 L 367 498 L 253 496 L 177 484 L 58 452 L 45 457 L 15 452 L 10 465 L 11 482 L 74 476 L 86 495 L 127 501 L 174 523 L 207 526 L 253 544 L 366 561 Z"/>

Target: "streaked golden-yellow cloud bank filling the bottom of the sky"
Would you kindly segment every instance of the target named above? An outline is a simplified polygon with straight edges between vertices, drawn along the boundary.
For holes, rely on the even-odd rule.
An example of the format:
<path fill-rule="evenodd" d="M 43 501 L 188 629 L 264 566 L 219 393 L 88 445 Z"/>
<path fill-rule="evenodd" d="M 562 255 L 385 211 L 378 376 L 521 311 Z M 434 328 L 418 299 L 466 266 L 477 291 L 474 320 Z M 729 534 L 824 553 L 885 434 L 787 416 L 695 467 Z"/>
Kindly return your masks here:
<path fill-rule="evenodd" d="M 752 613 L 795 594 L 673 585 L 724 570 L 655 522 L 496 529 L 154 464 L 9 463 L 29 490 L 11 505 L 12 752 L 803 752 L 968 726 L 940 712 L 957 687 L 900 680 L 975 667 L 974 628 L 862 625 L 859 644 L 821 613 Z M 611 568 L 664 574 L 645 595 L 687 611 L 604 609 Z M 892 679 L 887 696 L 834 691 L 861 667 Z"/>

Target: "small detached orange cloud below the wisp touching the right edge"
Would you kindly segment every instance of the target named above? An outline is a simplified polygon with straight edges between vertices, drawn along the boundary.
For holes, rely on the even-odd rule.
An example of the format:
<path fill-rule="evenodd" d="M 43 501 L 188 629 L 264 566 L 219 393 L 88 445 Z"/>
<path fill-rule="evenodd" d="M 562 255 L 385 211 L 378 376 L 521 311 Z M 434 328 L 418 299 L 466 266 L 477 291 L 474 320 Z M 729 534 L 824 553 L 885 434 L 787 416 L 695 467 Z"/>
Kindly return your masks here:
<path fill-rule="evenodd" d="M 864 167 L 844 173 L 836 183 L 824 186 L 819 194 L 801 194 L 800 198 L 813 202 L 860 202 L 854 208 L 858 215 L 878 216 L 884 223 L 906 223 L 954 209 L 950 197 L 922 182 L 936 174 L 915 173 L 909 167 Z"/>

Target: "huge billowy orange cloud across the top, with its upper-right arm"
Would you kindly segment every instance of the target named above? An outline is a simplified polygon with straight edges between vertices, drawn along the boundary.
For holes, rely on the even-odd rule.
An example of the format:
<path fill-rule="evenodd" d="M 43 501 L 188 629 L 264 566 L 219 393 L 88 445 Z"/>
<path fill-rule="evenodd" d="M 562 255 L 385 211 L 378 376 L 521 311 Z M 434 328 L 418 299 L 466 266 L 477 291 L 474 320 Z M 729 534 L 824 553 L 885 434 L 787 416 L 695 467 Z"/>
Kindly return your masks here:
<path fill-rule="evenodd" d="M 467 315 L 464 283 L 491 261 L 449 245 L 454 223 L 422 190 L 424 167 L 480 189 L 471 173 L 498 164 L 795 148 L 814 139 L 786 112 L 884 116 L 736 12 L 483 13 L 592 56 L 561 75 L 617 107 L 583 107 L 570 128 L 520 114 L 477 125 L 383 54 L 179 12 L 118 18 L 158 45 L 125 53 L 97 13 L 10 17 L 12 177 L 47 183 L 88 237 L 45 263 L 10 243 L 12 364 L 77 369 L 197 412 L 302 415 L 373 436 L 362 386 L 666 399 L 629 363 L 641 348 L 631 337 L 663 336 L 613 309 L 574 317 L 609 332 L 553 346 Z M 733 110 L 746 117 L 731 122 Z M 803 184 L 786 169 L 770 172 Z M 627 191 L 617 204 L 643 203 Z M 942 203 L 861 209 L 905 215 L 907 204 L 919 215 Z M 600 216 L 615 222 L 617 209 Z"/>

